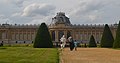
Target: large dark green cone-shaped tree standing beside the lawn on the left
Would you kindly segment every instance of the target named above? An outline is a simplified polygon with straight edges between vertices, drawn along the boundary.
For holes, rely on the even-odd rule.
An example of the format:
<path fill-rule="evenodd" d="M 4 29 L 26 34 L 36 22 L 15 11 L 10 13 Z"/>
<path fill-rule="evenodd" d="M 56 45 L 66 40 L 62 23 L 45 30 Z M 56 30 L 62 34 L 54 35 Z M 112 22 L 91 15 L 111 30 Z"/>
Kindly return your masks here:
<path fill-rule="evenodd" d="M 41 23 L 37 31 L 33 47 L 34 48 L 52 48 L 53 47 L 51 36 L 48 31 L 48 27 L 45 23 Z"/>

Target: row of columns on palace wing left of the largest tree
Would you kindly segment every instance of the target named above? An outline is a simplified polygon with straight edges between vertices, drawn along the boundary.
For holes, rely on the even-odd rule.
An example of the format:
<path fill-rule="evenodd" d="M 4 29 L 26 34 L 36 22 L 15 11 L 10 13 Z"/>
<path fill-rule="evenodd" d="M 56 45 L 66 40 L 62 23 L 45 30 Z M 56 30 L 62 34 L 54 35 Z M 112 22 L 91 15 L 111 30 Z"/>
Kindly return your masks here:
<path fill-rule="evenodd" d="M 29 31 L 29 32 L 24 32 L 24 31 L 10 31 L 10 30 L 5 30 L 0 31 L 0 40 L 33 40 L 36 35 L 36 31 Z"/>

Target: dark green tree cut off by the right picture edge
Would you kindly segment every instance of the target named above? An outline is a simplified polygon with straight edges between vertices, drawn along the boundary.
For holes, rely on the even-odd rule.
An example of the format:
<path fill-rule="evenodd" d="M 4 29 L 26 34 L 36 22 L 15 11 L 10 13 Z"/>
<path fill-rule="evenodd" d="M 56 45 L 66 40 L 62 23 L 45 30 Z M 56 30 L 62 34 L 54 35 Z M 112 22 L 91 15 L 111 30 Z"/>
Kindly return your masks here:
<path fill-rule="evenodd" d="M 113 48 L 120 48 L 120 21 L 119 21 L 118 28 L 116 31 L 116 38 L 113 43 Z"/>

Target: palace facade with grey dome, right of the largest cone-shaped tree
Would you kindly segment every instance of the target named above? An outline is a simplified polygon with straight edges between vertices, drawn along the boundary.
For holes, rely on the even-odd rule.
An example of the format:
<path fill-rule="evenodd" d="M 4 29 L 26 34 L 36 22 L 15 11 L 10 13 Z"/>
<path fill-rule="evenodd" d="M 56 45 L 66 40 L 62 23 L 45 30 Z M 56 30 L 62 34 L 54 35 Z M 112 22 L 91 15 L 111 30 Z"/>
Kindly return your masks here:
<path fill-rule="evenodd" d="M 113 36 L 115 37 L 117 24 L 109 25 Z M 52 18 L 52 23 L 49 26 L 49 30 L 52 36 L 52 40 L 58 42 L 60 37 L 64 34 L 66 38 L 71 35 L 75 40 L 83 43 L 88 43 L 90 36 L 95 37 L 96 42 L 100 42 L 102 33 L 104 29 L 103 25 L 73 25 L 70 23 L 68 17 L 65 16 L 65 13 L 59 12 L 57 15 Z"/>

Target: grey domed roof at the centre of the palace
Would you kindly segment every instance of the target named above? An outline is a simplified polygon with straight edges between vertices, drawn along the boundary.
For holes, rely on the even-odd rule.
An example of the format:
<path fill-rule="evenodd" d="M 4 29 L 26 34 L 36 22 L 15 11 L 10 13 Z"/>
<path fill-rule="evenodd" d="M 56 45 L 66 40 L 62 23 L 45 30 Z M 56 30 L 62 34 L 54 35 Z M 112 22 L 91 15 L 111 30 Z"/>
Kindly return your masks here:
<path fill-rule="evenodd" d="M 57 15 L 52 18 L 52 23 L 51 24 L 65 24 L 65 25 L 70 25 L 69 18 L 65 16 L 64 12 L 59 12 Z"/>

